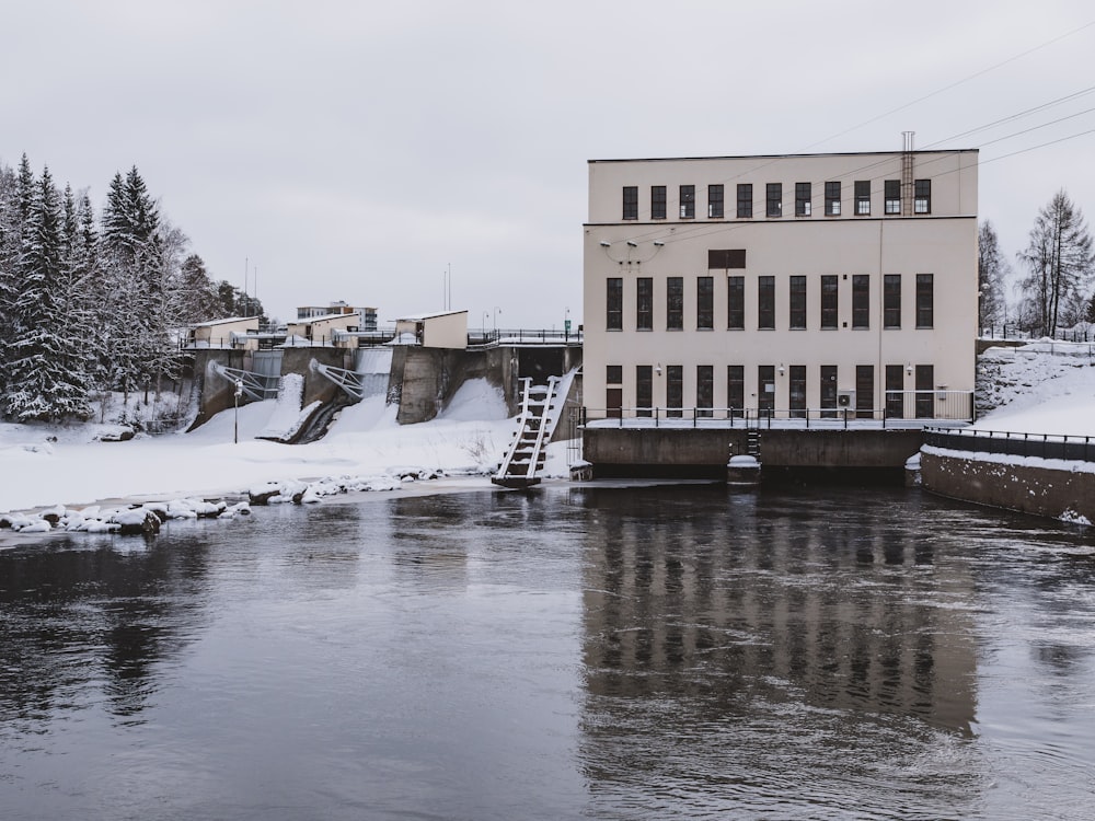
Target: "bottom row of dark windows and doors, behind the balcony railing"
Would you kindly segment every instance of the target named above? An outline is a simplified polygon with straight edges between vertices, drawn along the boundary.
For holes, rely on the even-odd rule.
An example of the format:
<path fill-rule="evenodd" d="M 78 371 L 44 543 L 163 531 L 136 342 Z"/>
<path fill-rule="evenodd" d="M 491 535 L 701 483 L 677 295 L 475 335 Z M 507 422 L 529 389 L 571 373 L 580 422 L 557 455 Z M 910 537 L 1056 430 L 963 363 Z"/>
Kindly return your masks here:
<path fill-rule="evenodd" d="M 885 366 L 885 410 L 889 418 L 903 418 L 907 414 L 904 384 L 909 366 L 887 365 Z M 805 418 L 807 415 L 806 391 L 807 367 L 805 365 L 792 365 L 786 369 L 780 366 L 780 374 L 784 371 L 787 374 L 786 408 L 792 418 Z M 660 368 L 658 370 L 660 374 Z M 665 369 L 666 373 L 666 415 L 669 417 L 680 417 L 684 407 L 684 366 L 670 365 Z M 915 390 L 913 403 L 913 414 L 917 418 L 926 419 L 934 416 L 932 392 L 935 379 L 935 369 L 931 365 L 918 365 L 914 367 Z M 775 410 L 775 385 L 776 367 L 774 365 L 757 366 L 757 400 L 750 406 L 759 410 Z M 835 416 L 840 407 L 840 395 L 837 390 L 838 367 L 835 365 L 822 365 L 818 368 L 819 398 L 820 407 L 823 412 L 831 412 L 825 415 Z M 740 412 L 747 407 L 746 404 L 746 369 L 744 365 L 726 366 L 726 408 L 731 412 Z M 606 382 L 608 384 L 606 393 L 606 407 L 609 416 L 619 415 L 622 405 L 623 390 L 613 385 L 623 384 L 623 366 L 610 365 L 607 368 Z M 874 415 L 874 393 L 875 393 L 875 367 L 873 365 L 855 366 L 855 396 L 852 403 L 857 416 L 871 418 Z M 695 408 L 696 416 L 712 416 L 712 408 L 715 407 L 715 367 L 712 365 L 698 365 L 695 367 Z M 649 365 L 635 367 L 635 408 L 637 416 L 650 416 L 654 412 L 654 368 Z M 733 415 L 733 414 L 731 414 Z"/>

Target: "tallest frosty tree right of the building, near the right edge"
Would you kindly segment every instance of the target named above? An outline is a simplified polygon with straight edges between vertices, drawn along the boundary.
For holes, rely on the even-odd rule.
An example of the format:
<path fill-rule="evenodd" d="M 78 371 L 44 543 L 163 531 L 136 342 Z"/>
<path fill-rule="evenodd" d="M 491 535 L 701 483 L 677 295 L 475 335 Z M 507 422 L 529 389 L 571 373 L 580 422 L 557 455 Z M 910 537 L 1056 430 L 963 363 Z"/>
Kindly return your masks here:
<path fill-rule="evenodd" d="M 1095 252 L 1083 212 L 1059 190 L 1038 212 L 1030 244 L 1019 254 L 1029 275 L 1019 287 L 1025 315 L 1039 333 L 1052 336 L 1095 271 Z"/>

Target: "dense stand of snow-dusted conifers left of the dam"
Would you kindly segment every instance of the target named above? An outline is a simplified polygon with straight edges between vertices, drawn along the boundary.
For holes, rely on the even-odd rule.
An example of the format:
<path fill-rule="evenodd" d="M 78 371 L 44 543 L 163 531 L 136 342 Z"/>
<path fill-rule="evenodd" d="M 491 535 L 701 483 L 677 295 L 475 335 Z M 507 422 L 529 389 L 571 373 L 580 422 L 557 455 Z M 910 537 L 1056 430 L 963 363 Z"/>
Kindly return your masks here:
<path fill-rule="evenodd" d="M 134 166 L 96 218 L 87 189 L 58 188 L 26 154 L 0 164 L 0 416 L 90 418 L 112 391 L 178 377 L 181 328 L 262 305 L 214 281 Z"/>

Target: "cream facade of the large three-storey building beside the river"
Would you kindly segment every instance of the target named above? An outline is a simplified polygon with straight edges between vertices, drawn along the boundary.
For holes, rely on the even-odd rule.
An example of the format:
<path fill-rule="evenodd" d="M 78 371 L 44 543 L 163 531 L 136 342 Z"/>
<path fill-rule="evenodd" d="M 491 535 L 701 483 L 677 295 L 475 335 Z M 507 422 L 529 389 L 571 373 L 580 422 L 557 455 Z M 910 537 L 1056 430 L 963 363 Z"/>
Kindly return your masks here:
<path fill-rule="evenodd" d="M 590 161 L 588 416 L 965 418 L 977 158 Z"/>

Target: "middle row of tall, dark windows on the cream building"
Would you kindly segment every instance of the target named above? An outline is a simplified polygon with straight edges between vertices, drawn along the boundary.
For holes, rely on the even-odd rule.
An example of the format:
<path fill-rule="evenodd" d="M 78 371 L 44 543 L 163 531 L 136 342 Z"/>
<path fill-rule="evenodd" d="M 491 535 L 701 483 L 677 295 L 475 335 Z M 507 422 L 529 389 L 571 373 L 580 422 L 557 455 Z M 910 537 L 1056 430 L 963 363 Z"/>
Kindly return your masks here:
<path fill-rule="evenodd" d="M 841 281 L 848 275 L 822 274 L 820 287 L 820 312 L 818 327 L 821 329 L 840 327 Z M 883 276 L 883 327 L 901 327 L 901 296 L 904 277 L 901 274 Z M 635 280 L 635 329 L 654 329 L 654 278 L 637 277 Z M 726 278 L 726 327 L 744 331 L 746 327 L 746 277 Z M 623 277 L 607 280 L 607 331 L 623 331 Z M 787 282 L 787 328 L 807 329 L 808 278 L 803 275 L 788 277 Z M 852 327 L 871 327 L 871 275 L 854 274 L 852 288 Z M 776 327 L 776 289 L 774 276 L 756 278 L 757 329 L 774 331 Z M 715 328 L 715 278 L 698 277 L 695 288 L 695 327 L 698 331 Z M 915 324 L 918 328 L 931 328 L 935 324 L 935 278 L 932 274 L 915 275 Z M 666 278 L 665 317 L 667 331 L 684 329 L 684 277 Z M 848 327 L 848 322 L 843 323 Z"/>

